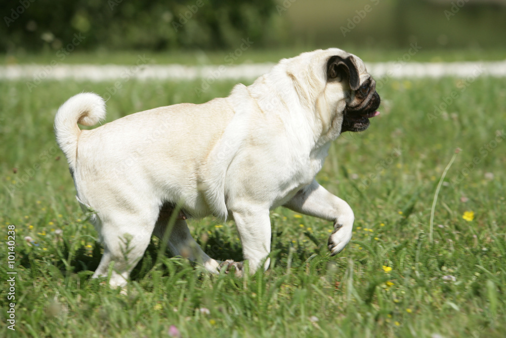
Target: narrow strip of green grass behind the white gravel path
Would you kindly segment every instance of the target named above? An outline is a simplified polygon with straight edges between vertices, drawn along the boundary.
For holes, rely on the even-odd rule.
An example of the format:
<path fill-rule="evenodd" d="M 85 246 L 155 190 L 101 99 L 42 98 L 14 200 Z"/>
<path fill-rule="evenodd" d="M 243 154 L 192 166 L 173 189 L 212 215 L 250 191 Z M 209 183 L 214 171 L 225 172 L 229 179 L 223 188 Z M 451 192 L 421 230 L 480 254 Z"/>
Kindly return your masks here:
<path fill-rule="evenodd" d="M 237 48 L 240 47 L 238 44 Z M 405 49 L 385 49 L 378 51 L 377 48 L 364 48 L 357 46 L 314 46 L 314 47 L 292 47 L 292 48 L 278 48 L 265 50 L 256 48 L 255 44 L 247 51 L 247 55 L 243 54 L 234 60 L 234 64 L 252 63 L 252 62 L 273 62 L 276 63 L 282 58 L 293 57 L 302 52 L 314 50 L 318 48 L 338 47 L 350 53 L 359 55 L 364 61 L 367 62 L 385 62 L 397 60 L 409 51 L 410 46 Z M 428 49 L 424 46 L 419 46 L 421 49 L 411 58 L 411 61 L 417 62 L 452 62 L 452 61 L 496 61 L 504 60 L 506 51 L 504 48 L 497 47 L 496 49 Z M 78 48 L 78 47 L 77 47 Z M 0 56 L 0 63 L 7 64 L 49 64 L 56 61 L 59 64 L 134 64 L 137 60 L 137 55 L 145 55 L 150 59 L 150 63 L 154 64 L 229 64 L 230 58 L 226 58 L 230 53 L 234 52 L 233 49 L 224 51 L 166 51 L 166 52 L 151 52 L 151 51 L 138 51 L 138 52 L 118 52 L 118 51 L 95 51 L 95 52 L 81 52 L 76 50 L 70 53 L 62 60 L 64 54 L 57 51 L 46 51 L 39 54 L 4 54 Z"/>

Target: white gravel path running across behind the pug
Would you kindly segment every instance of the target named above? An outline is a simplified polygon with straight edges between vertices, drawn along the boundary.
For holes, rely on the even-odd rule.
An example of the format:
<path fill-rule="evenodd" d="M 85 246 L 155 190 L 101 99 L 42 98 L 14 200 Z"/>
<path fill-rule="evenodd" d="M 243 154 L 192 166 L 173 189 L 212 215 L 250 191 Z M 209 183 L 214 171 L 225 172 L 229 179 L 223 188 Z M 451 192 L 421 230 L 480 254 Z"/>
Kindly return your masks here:
<path fill-rule="evenodd" d="M 376 78 L 506 77 L 506 61 L 414 63 L 367 63 Z M 38 84 L 43 80 L 113 81 L 128 79 L 194 80 L 255 79 L 269 71 L 272 63 L 241 65 L 185 66 L 167 65 L 4 65 L 0 80 L 26 80 Z"/>

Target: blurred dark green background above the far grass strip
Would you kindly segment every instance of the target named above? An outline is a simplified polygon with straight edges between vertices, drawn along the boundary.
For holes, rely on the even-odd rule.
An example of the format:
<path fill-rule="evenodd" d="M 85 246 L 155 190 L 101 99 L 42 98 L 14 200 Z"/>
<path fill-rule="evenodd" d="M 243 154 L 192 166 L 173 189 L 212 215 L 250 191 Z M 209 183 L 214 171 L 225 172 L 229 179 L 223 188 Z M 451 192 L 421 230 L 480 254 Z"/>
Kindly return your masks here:
<path fill-rule="evenodd" d="M 466 50 L 506 53 L 504 0 L 3 0 L 0 52 L 255 49 Z M 79 35 L 80 34 L 80 35 Z M 6 62 L 15 62 L 7 58 Z"/>

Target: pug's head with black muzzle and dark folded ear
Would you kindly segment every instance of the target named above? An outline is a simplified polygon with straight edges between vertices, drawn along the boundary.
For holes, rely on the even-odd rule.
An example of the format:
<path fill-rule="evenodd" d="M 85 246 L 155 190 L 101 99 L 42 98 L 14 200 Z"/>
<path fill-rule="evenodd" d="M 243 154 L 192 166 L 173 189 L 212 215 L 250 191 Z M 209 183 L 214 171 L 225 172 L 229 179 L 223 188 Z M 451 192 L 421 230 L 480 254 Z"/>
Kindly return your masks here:
<path fill-rule="evenodd" d="M 331 138 L 345 131 L 363 131 L 379 114 L 376 82 L 357 56 L 331 48 L 303 53 L 285 61 L 301 103 Z"/>

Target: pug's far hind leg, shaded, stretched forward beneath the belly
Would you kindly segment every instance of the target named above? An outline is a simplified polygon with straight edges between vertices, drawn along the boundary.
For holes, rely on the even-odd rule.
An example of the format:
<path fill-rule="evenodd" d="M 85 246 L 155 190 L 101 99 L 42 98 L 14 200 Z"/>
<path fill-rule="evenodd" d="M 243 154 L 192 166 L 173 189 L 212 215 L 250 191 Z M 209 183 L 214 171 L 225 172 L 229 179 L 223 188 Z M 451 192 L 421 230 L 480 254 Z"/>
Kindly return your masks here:
<path fill-rule="evenodd" d="M 204 266 L 210 273 L 217 274 L 219 262 L 209 257 L 195 242 L 184 219 L 176 219 L 172 229 L 168 229 L 172 208 L 162 207 L 158 221 L 156 222 L 154 235 L 160 239 L 164 238 L 165 231 L 171 231 L 167 240 L 167 247 L 175 256 L 182 256 Z M 179 217 L 180 218 L 180 217 Z"/>

